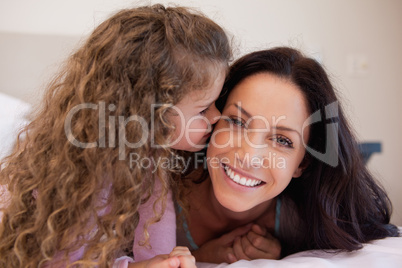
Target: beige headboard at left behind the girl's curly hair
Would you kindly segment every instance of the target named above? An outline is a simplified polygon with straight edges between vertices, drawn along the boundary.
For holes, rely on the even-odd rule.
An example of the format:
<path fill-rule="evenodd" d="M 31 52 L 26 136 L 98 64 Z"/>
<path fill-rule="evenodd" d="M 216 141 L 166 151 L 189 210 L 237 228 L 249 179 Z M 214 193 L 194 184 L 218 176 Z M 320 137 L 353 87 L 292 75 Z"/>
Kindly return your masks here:
<path fill-rule="evenodd" d="M 0 92 L 38 103 L 43 87 L 79 41 L 77 36 L 0 32 Z"/>

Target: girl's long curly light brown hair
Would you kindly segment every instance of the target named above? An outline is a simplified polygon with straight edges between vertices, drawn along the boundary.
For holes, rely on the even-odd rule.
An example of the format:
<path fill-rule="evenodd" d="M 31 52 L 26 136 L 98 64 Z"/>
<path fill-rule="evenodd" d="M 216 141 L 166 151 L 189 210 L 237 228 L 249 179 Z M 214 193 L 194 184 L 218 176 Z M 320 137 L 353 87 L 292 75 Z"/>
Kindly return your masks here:
<path fill-rule="evenodd" d="M 0 267 L 110 267 L 132 247 L 137 210 L 155 179 L 162 207 L 173 184 L 174 168 L 158 166 L 151 174 L 130 166 L 130 155 L 174 156 L 163 146 L 174 128 L 169 107 L 208 86 L 230 59 L 223 29 L 187 8 L 127 9 L 100 24 L 49 84 L 1 163 L 8 202 L 1 210 Z M 152 104 L 163 105 L 152 110 Z M 147 139 L 132 116 L 147 123 Z M 154 212 L 157 221 L 163 209 Z"/>

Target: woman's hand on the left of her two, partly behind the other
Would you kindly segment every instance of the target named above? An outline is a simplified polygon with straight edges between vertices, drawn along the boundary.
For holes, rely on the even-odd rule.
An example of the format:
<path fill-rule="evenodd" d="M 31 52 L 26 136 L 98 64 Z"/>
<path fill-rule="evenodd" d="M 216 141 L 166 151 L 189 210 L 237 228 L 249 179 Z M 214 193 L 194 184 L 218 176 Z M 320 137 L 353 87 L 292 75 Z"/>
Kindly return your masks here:
<path fill-rule="evenodd" d="M 237 237 L 247 234 L 251 224 L 234 229 L 220 238 L 210 240 L 199 249 L 193 251 L 193 255 L 199 262 L 209 263 L 233 263 L 238 259 L 233 252 L 233 243 Z"/>

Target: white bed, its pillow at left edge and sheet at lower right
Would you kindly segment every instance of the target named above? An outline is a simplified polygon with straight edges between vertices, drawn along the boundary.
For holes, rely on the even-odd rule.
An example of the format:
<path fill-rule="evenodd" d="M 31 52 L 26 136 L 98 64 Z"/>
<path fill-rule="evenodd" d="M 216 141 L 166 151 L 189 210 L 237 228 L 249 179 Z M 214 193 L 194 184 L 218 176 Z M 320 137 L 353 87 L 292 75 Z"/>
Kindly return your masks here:
<path fill-rule="evenodd" d="M 0 159 L 6 156 L 18 130 L 27 124 L 30 105 L 0 92 Z M 402 232 L 402 228 L 400 228 Z M 233 264 L 197 263 L 199 268 L 240 267 L 402 267 L 402 237 L 390 237 L 365 244 L 351 253 L 331 253 L 321 250 L 299 252 L 282 260 L 238 261 Z"/>

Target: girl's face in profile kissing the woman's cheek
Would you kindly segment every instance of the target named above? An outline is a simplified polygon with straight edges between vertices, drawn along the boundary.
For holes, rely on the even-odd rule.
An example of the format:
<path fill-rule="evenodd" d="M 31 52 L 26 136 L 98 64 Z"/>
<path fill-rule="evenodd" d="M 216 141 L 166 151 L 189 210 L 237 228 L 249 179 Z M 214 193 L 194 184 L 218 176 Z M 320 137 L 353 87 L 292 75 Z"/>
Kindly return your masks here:
<path fill-rule="evenodd" d="M 170 117 L 175 126 L 171 141 L 173 149 L 196 152 L 205 147 L 211 136 L 212 125 L 221 116 L 215 101 L 222 90 L 225 75 L 225 69 L 220 68 L 211 86 L 191 91 L 173 107 Z"/>

